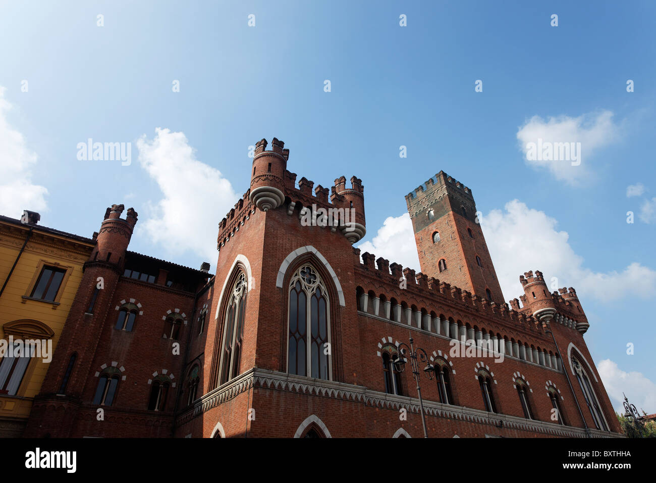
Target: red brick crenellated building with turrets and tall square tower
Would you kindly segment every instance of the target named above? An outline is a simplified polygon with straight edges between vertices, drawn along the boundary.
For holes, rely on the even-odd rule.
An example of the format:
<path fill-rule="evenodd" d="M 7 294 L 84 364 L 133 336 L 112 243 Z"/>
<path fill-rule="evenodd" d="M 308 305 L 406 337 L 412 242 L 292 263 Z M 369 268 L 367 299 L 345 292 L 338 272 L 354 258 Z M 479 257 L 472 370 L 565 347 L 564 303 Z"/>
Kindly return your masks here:
<path fill-rule="evenodd" d="M 529 271 L 505 304 L 467 187 L 406 196 L 415 273 L 352 247 L 361 180 L 297 183 L 266 146 L 214 276 L 127 251 L 108 208 L 26 436 L 422 437 L 410 337 L 429 437 L 620 435 L 575 290 Z"/>

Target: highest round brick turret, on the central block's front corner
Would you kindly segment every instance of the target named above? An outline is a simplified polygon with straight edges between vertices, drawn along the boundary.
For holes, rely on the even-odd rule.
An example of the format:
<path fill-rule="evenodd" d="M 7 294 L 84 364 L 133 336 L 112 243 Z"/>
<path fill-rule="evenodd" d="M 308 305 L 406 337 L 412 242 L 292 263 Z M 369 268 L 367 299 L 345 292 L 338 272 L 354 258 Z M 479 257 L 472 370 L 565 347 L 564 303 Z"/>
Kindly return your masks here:
<path fill-rule="evenodd" d="M 289 149 L 275 137 L 272 150 L 266 150 L 266 139 L 255 145 L 253 172 L 251 173 L 251 201 L 263 212 L 272 210 L 285 201 L 285 170 L 289 159 Z"/>

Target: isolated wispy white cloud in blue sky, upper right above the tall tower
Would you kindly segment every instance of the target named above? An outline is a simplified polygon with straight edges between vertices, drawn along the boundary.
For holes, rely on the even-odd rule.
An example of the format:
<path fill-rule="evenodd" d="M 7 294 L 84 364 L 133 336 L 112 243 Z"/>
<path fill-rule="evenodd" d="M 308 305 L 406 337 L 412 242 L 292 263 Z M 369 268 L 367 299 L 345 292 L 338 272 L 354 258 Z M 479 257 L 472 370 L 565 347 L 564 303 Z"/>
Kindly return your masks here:
<path fill-rule="evenodd" d="M 556 179 L 572 185 L 577 184 L 591 173 L 590 162 L 594 152 L 609 145 L 619 137 L 619 127 L 613 124 L 613 113 L 602 112 L 583 114 L 577 118 L 569 116 L 549 117 L 543 120 L 533 116 L 517 131 L 517 139 L 526 163 L 535 168 L 547 168 Z M 529 160 L 529 143 L 581 143 L 579 166 L 572 166 L 573 160 Z M 575 161 L 575 163 L 577 163 Z"/>

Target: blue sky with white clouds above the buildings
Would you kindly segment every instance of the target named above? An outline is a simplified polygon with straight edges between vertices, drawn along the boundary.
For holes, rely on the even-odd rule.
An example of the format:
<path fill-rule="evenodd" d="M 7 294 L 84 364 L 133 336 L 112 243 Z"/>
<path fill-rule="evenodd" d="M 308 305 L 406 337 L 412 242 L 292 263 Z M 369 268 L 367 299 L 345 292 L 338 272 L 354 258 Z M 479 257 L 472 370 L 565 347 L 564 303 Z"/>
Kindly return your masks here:
<path fill-rule="evenodd" d="M 419 271 L 404 196 L 443 170 L 504 298 L 574 287 L 614 407 L 656 413 L 656 3 L 572 4 L 0 1 L 0 214 L 91 237 L 133 206 L 131 250 L 214 269 L 277 137 L 298 179 L 361 178 L 359 248 Z"/>

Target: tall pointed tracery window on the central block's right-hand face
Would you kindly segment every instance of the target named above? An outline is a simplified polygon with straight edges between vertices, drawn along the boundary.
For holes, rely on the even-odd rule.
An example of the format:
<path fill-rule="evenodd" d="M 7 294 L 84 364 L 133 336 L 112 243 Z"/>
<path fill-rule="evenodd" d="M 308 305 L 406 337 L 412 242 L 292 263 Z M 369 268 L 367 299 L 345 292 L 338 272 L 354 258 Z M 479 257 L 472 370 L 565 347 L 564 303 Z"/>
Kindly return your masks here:
<path fill-rule="evenodd" d="M 310 265 L 303 265 L 289 283 L 287 372 L 331 379 L 328 291 Z"/>

